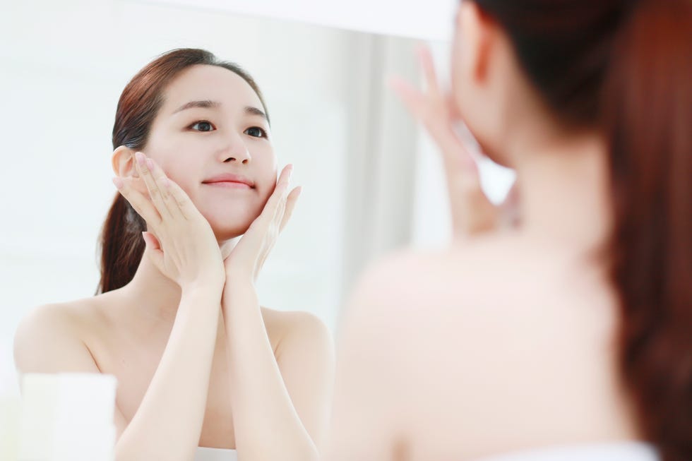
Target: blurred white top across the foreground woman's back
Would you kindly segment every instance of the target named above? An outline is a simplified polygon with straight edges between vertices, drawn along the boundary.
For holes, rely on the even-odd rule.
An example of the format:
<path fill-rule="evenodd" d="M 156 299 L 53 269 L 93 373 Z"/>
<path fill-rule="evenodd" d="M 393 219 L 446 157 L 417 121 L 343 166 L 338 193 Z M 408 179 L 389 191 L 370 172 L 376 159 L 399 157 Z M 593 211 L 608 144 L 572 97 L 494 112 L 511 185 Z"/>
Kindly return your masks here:
<path fill-rule="evenodd" d="M 612 442 L 536 448 L 476 461 L 660 461 L 660 456 L 649 443 Z"/>

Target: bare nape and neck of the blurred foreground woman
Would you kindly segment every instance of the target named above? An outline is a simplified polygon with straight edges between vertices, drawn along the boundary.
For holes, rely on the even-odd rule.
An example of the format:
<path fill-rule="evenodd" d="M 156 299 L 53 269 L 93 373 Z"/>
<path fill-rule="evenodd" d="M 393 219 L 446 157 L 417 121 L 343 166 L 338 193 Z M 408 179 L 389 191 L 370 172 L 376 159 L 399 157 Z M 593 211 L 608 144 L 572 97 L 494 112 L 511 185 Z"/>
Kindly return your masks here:
<path fill-rule="evenodd" d="M 513 143 L 526 234 L 568 249 L 595 249 L 612 225 L 607 148 L 595 133 Z"/>

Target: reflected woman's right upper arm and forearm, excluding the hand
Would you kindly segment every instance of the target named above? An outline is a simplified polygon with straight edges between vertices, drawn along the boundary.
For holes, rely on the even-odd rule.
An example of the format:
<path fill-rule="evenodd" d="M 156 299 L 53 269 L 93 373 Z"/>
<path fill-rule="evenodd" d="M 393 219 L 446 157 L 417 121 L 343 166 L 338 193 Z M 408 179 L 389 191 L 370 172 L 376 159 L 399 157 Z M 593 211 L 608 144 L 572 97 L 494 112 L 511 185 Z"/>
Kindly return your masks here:
<path fill-rule="evenodd" d="M 249 281 L 234 282 L 223 312 L 241 459 L 318 459 L 333 377 L 328 330 L 309 314 L 299 315 L 275 358 Z"/>

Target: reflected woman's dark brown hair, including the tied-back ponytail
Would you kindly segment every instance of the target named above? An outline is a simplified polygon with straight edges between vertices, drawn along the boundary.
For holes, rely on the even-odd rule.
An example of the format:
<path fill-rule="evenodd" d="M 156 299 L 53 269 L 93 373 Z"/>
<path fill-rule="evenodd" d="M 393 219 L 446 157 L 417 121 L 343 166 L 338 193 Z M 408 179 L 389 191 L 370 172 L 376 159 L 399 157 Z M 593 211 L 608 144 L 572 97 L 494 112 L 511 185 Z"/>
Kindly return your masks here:
<path fill-rule="evenodd" d="M 126 85 L 115 114 L 113 148 L 125 145 L 133 150 L 142 150 L 168 84 L 181 71 L 198 64 L 218 66 L 237 73 L 255 90 L 269 116 L 262 93 L 240 66 L 220 61 L 203 49 L 174 49 L 151 61 Z M 132 280 L 144 253 L 142 232 L 145 230 L 144 220 L 117 193 L 100 235 L 101 280 L 97 294 L 124 287 Z"/>

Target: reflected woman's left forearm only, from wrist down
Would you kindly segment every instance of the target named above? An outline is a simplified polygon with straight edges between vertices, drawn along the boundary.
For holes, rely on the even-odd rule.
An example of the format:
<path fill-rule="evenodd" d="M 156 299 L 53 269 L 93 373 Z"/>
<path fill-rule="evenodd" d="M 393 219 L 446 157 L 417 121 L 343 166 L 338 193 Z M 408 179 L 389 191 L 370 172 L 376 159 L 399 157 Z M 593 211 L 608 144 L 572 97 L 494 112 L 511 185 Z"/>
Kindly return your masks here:
<path fill-rule="evenodd" d="M 189 461 L 199 443 L 219 322 L 220 290 L 184 292 L 165 351 L 117 461 Z"/>

